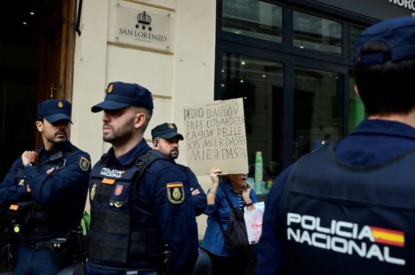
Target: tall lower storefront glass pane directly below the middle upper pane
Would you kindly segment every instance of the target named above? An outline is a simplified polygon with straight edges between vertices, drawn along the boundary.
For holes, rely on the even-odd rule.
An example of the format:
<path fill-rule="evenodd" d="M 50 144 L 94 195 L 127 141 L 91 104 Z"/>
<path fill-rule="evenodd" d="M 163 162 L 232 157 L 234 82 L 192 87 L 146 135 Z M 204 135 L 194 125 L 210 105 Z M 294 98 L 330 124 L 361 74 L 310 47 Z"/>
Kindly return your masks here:
<path fill-rule="evenodd" d="M 295 67 L 294 160 L 311 151 L 315 140 L 343 138 L 342 75 Z"/>

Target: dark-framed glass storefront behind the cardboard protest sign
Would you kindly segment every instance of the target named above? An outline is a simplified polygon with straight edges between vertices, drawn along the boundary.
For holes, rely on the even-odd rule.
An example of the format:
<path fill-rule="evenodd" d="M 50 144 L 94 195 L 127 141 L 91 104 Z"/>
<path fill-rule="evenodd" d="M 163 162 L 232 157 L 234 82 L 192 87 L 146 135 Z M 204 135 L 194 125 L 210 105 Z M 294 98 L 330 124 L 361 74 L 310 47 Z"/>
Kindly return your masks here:
<path fill-rule="evenodd" d="M 218 0 L 214 99 L 243 97 L 248 161 L 264 180 L 365 119 L 353 91 L 353 45 L 366 26 L 312 1 Z"/>

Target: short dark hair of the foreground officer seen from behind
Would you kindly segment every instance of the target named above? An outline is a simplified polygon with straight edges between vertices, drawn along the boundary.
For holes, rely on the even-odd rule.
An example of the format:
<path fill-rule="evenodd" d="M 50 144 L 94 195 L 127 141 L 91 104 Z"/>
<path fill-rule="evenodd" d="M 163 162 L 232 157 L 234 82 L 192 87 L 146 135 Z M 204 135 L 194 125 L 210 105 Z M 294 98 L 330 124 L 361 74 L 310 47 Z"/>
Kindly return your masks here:
<path fill-rule="evenodd" d="M 362 54 L 389 53 L 389 46 L 372 41 Z M 367 115 L 407 114 L 415 107 L 415 59 L 386 61 L 383 64 L 358 65 L 355 81 Z"/>

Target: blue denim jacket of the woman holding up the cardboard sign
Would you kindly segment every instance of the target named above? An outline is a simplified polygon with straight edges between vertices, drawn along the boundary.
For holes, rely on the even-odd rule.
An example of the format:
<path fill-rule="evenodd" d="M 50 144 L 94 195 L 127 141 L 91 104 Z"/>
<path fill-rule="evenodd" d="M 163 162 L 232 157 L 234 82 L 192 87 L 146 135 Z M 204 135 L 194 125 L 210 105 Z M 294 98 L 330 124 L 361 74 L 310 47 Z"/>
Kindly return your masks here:
<path fill-rule="evenodd" d="M 228 197 L 232 201 L 234 207 L 239 208 L 238 193 L 234 191 L 232 184 L 230 184 L 230 182 L 221 182 L 220 186 L 228 192 Z M 221 187 L 218 187 L 216 191 L 214 205 L 208 205 L 205 209 L 205 214 L 208 215 L 208 227 L 206 227 L 205 238 L 203 238 L 201 247 L 212 254 L 230 256 L 225 247 L 225 240 L 223 240 L 221 227 L 219 225 L 220 220 L 223 229 L 226 229 L 226 227 L 228 227 L 228 218 L 230 215 L 230 206 L 228 205 L 225 193 L 223 193 Z M 208 193 L 209 192 L 210 189 L 208 190 Z M 250 193 L 250 198 L 252 202 L 258 202 L 254 189 L 252 189 Z M 245 202 L 243 202 L 243 205 L 245 206 Z"/>

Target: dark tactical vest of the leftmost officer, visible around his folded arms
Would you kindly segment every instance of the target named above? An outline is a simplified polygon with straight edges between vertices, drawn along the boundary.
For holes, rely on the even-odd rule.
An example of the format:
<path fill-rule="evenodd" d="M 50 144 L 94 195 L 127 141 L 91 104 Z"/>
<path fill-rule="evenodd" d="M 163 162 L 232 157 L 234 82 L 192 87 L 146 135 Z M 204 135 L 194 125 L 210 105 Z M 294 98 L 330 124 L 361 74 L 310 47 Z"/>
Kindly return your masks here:
<path fill-rule="evenodd" d="M 39 150 L 36 151 L 39 153 Z M 65 152 L 59 151 L 45 160 L 39 163 L 39 168 L 43 171 L 48 171 L 50 168 L 55 168 L 53 173 L 56 173 L 60 169 L 66 167 L 66 160 L 71 158 L 73 154 L 77 153 L 74 150 L 68 150 Z M 19 167 L 16 173 L 15 182 L 19 186 L 26 186 L 26 175 L 23 165 Z M 48 209 L 45 205 L 39 202 L 17 202 L 15 205 L 21 204 L 25 209 L 19 214 L 20 218 L 24 219 L 21 223 L 21 233 L 25 234 L 26 237 L 37 238 L 39 236 L 48 236 L 50 238 L 57 236 L 66 236 L 67 229 L 59 228 L 59 224 L 56 220 L 56 216 L 59 213 Z M 23 208 L 23 207 L 22 207 Z M 9 210 L 11 211 L 11 210 Z"/>

